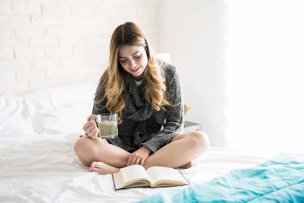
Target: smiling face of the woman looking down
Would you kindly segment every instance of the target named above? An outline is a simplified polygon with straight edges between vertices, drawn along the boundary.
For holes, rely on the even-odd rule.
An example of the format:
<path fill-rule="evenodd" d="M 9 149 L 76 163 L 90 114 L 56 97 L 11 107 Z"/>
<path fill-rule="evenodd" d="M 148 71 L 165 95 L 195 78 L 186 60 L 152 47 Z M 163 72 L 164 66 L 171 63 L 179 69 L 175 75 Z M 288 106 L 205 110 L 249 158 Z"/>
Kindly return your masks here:
<path fill-rule="evenodd" d="M 144 47 L 126 45 L 119 49 L 118 59 L 123 69 L 132 74 L 135 80 L 142 80 L 143 71 L 148 64 Z"/>

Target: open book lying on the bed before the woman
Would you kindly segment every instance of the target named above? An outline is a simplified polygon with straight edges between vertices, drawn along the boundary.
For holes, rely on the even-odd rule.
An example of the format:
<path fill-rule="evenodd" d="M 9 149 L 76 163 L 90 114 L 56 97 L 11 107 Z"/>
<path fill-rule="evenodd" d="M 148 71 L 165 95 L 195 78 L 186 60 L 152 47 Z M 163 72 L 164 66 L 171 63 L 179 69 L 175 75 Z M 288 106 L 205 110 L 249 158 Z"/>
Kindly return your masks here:
<path fill-rule="evenodd" d="M 115 189 L 131 187 L 168 187 L 188 185 L 183 175 L 174 168 L 154 166 L 146 171 L 142 165 L 130 165 L 113 174 Z"/>

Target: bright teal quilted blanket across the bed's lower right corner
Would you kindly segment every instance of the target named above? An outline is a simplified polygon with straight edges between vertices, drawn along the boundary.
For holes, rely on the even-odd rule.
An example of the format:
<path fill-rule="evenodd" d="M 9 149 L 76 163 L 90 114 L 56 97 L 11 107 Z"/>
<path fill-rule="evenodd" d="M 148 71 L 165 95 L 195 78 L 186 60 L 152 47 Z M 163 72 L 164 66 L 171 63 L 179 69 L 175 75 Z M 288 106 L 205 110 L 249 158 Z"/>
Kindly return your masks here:
<path fill-rule="evenodd" d="M 283 153 L 255 167 L 140 202 L 304 202 L 304 155 Z"/>

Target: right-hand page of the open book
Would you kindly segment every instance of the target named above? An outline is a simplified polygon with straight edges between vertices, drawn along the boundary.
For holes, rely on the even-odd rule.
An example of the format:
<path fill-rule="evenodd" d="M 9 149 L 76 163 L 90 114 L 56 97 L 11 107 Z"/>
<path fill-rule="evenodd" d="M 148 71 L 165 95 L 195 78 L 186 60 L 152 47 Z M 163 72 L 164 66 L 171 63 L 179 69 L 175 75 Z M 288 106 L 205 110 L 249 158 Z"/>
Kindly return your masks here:
<path fill-rule="evenodd" d="M 160 181 L 160 180 L 180 181 L 185 184 L 188 184 L 188 182 L 180 174 L 180 172 L 175 170 L 174 168 L 153 166 L 153 167 L 150 167 L 147 169 L 147 174 L 148 174 L 152 184 L 154 184 L 155 182 Z"/>

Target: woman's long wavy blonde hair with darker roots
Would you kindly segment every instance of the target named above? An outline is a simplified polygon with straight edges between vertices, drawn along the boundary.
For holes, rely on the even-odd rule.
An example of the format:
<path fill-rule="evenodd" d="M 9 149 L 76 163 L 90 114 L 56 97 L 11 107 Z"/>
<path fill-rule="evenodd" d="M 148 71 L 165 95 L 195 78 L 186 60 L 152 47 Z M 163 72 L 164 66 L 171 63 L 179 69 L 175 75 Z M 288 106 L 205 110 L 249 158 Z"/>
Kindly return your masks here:
<path fill-rule="evenodd" d="M 170 105 L 166 98 L 166 80 L 163 71 L 163 64 L 156 61 L 148 40 L 141 29 L 132 22 L 119 25 L 113 32 L 110 42 L 109 65 L 103 73 L 96 96 L 104 92 L 100 100 L 95 104 L 101 104 L 107 98 L 105 107 L 110 113 L 117 113 L 119 123 L 122 122 L 123 109 L 126 107 L 125 70 L 118 60 L 119 49 L 123 46 L 143 46 L 147 54 L 148 63 L 143 72 L 143 84 L 145 98 L 148 103 L 157 111 L 163 106 Z"/>

